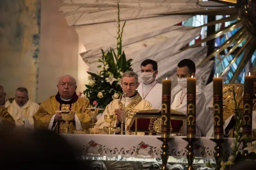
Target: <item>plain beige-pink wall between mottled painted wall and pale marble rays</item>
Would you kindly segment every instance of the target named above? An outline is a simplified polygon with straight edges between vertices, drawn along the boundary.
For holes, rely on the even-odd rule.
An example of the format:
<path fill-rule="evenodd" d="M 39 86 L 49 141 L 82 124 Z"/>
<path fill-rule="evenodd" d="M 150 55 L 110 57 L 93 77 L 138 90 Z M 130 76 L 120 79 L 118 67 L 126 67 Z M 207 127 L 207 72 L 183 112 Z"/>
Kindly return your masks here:
<path fill-rule="evenodd" d="M 67 25 L 64 14 L 58 12 L 58 3 L 42 1 L 38 102 L 57 93 L 61 75 L 70 74 L 77 79 L 80 66 L 77 33 Z M 79 68 L 83 70 L 83 65 Z"/>

